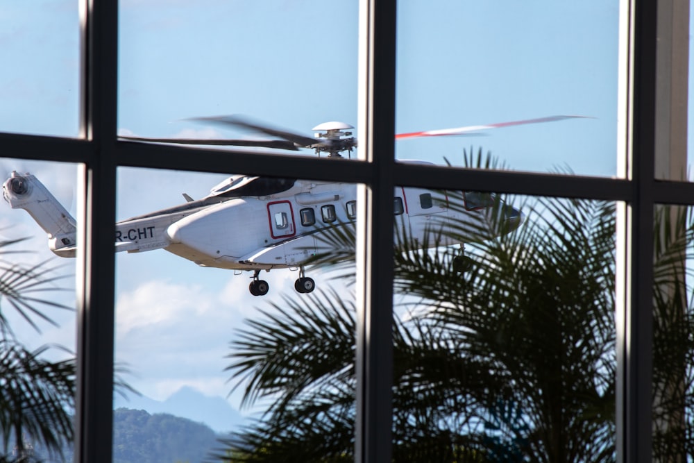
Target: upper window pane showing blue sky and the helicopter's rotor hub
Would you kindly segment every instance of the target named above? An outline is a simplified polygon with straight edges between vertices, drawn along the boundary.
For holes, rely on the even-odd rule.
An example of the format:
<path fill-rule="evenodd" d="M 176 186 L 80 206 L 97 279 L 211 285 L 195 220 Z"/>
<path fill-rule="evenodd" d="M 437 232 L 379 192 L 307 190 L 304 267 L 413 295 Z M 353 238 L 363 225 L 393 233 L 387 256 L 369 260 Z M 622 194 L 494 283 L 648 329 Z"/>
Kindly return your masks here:
<path fill-rule="evenodd" d="M 357 3 L 120 1 L 119 134 L 306 155 L 314 127 L 350 138 Z"/>

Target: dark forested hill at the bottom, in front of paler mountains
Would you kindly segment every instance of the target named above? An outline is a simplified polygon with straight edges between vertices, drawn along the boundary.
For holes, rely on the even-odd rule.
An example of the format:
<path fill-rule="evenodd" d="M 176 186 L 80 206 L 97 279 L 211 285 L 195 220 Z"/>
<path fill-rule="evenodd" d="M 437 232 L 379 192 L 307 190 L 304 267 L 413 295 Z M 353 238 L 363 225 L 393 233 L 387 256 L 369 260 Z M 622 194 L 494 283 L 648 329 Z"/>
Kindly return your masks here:
<path fill-rule="evenodd" d="M 217 435 L 201 423 L 144 410 L 113 412 L 113 463 L 203 463 L 214 449 Z"/>

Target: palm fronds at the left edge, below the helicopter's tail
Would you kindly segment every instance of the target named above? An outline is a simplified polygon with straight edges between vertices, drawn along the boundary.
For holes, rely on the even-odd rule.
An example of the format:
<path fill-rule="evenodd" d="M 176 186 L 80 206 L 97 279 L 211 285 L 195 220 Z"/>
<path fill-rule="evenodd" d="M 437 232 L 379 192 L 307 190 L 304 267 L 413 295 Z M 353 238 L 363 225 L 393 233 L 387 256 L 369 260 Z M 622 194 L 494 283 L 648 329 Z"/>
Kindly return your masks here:
<path fill-rule="evenodd" d="M 17 311 L 35 330 L 37 319 L 56 324 L 46 309 L 70 310 L 49 294 L 62 290 L 53 276 L 56 269 L 48 262 L 35 265 L 16 264 L 7 256 L 22 253 L 12 245 L 22 239 L 0 242 L 0 296 L 9 308 Z M 31 459 L 25 439 L 32 439 L 54 453 L 71 441 L 74 409 L 75 361 L 49 361 L 43 355 L 48 346 L 31 351 L 12 331 L 6 311 L 0 310 L 0 434 L 3 453 L 0 461 L 25 462 Z M 14 439 L 10 456 L 10 441 Z"/>

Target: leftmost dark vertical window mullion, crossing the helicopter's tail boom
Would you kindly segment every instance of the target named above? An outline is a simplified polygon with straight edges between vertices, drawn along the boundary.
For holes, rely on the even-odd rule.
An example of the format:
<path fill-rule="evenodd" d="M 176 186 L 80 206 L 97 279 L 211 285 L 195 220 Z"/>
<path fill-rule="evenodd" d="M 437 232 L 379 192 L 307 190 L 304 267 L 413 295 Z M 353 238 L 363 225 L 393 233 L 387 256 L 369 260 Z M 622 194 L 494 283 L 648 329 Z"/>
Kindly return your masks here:
<path fill-rule="evenodd" d="M 117 0 L 85 0 L 75 461 L 112 460 Z"/>

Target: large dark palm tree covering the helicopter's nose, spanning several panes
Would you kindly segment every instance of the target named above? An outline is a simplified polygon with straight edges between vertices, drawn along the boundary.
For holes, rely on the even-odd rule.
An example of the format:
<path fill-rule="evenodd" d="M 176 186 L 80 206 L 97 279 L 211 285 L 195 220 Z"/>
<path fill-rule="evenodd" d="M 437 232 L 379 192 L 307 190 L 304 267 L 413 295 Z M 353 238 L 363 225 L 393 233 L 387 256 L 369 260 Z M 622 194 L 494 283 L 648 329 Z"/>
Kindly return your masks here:
<path fill-rule="evenodd" d="M 465 273 L 452 268 L 457 251 L 419 251 L 399 230 L 394 291 L 407 297 L 393 318 L 393 461 L 616 460 L 615 205 L 535 199 L 521 209 L 523 226 L 495 239 L 485 238 L 498 209 L 474 230 L 461 225 L 455 233 L 479 237 Z M 654 301 L 663 457 L 691 455 L 694 443 L 694 311 L 682 264 L 692 223 L 680 214 L 656 224 L 665 230 Z M 353 233 L 331 239 L 348 249 Z M 224 442 L 222 459 L 351 461 L 355 329 L 353 305 L 334 291 L 287 297 L 248 320 L 228 370 L 246 403 L 269 407 Z"/>

